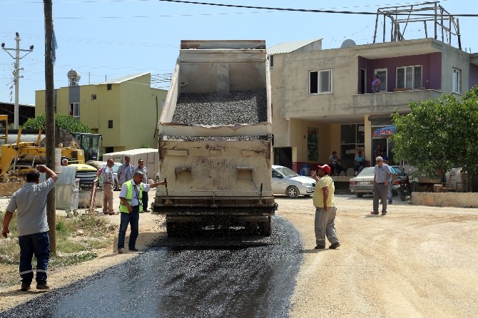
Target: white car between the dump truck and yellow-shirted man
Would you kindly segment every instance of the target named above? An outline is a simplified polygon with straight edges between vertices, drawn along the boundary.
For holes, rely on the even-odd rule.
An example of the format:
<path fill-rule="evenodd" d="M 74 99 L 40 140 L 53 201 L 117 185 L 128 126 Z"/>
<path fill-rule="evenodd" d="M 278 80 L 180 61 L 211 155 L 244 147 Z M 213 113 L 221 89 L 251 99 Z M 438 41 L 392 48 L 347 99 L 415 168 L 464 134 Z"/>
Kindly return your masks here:
<path fill-rule="evenodd" d="M 272 187 L 275 195 L 287 195 L 289 198 L 298 198 L 299 195 L 314 194 L 315 179 L 298 175 L 293 170 L 282 165 L 273 165 Z"/>

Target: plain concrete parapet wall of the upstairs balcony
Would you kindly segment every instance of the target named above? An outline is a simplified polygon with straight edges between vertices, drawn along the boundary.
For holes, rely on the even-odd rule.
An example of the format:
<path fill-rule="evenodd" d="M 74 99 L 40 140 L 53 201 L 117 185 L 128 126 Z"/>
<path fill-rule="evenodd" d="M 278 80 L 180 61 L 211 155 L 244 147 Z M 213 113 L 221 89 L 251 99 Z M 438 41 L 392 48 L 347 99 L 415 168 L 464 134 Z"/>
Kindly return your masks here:
<path fill-rule="evenodd" d="M 434 99 L 441 95 L 441 91 L 433 89 L 356 94 L 352 95 L 352 109 L 354 113 L 391 113 L 395 108 L 398 111 L 408 111 L 409 103 Z"/>

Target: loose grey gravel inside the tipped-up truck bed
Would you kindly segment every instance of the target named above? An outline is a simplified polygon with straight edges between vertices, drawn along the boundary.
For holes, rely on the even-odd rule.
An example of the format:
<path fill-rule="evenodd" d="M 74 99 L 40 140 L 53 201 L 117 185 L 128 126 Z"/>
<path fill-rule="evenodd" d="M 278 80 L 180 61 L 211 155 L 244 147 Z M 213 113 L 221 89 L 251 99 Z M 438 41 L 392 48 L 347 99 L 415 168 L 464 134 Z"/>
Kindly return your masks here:
<path fill-rule="evenodd" d="M 261 123 L 267 121 L 267 93 L 235 91 L 228 95 L 217 93 L 181 93 L 178 97 L 173 123 L 199 125 L 233 125 L 237 123 Z M 266 136 L 244 137 L 188 137 L 168 136 L 181 140 L 258 140 Z"/>

